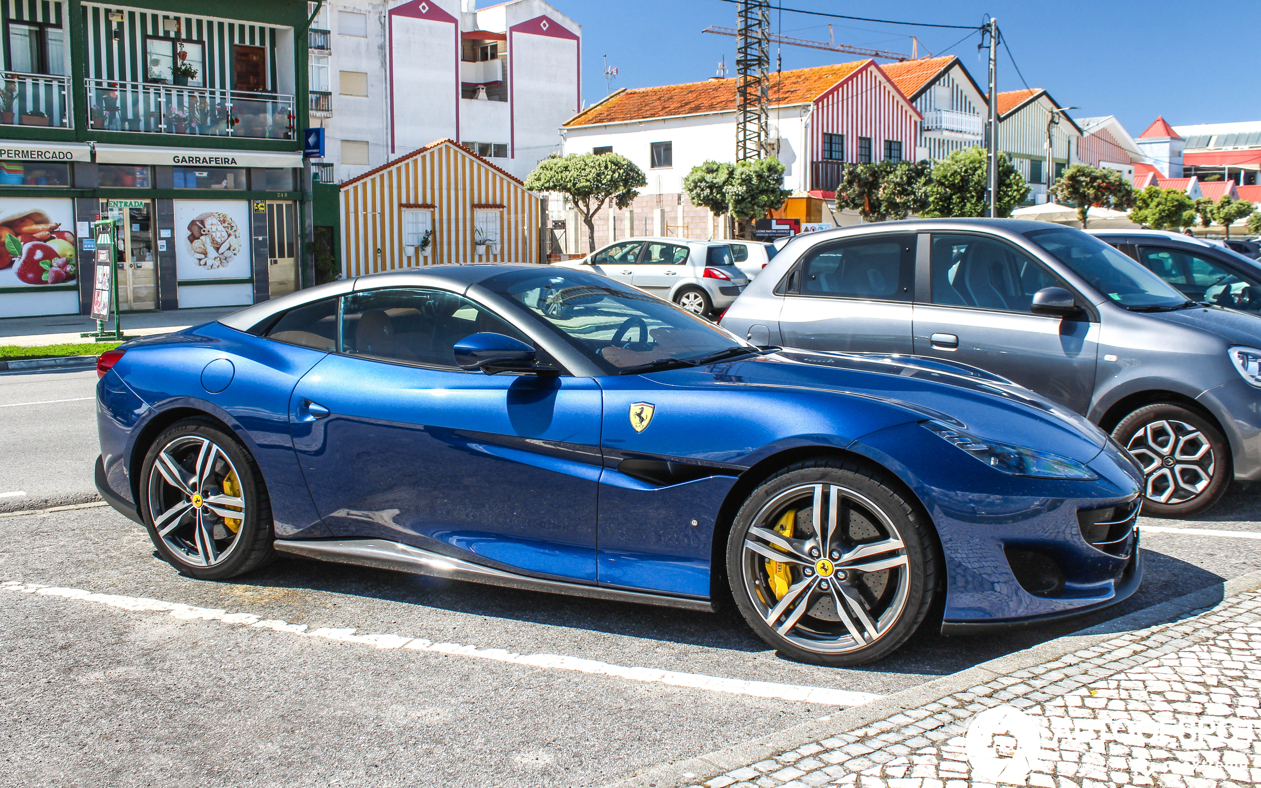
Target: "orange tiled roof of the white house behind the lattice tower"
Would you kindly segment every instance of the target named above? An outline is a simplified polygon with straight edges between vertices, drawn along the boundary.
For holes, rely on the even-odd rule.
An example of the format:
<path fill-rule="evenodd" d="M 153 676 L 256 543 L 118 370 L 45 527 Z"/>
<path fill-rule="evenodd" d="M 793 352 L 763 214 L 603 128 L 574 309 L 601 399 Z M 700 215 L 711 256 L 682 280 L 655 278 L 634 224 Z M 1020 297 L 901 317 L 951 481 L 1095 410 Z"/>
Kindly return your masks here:
<path fill-rule="evenodd" d="M 770 105 L 808 103 L 834 84 L 875 61 L 798 68 L 770 76 Z M 735 111 L 735 79 L 706 79 L 683 84 L 637 87 L 618 91 L 571 117 L 565 126 L 596 126 L 649 117 L 677 117 L 704 112 Z"/>

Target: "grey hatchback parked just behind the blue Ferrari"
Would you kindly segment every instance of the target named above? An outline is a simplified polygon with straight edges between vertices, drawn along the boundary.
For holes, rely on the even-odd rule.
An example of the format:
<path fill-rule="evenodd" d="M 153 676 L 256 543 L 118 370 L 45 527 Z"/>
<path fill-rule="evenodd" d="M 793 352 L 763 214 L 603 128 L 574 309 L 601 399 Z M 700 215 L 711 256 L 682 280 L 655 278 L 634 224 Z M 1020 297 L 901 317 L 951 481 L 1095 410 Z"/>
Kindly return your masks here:
<path fill-rule="evenodd" d="M 723 318 L 760 345 L 961 362 L 1087 416 L 1187 517 L 1261 479 L 1261 320 L 1199 303 L 1100 238 L 919 219 L 791 241 Z"/>

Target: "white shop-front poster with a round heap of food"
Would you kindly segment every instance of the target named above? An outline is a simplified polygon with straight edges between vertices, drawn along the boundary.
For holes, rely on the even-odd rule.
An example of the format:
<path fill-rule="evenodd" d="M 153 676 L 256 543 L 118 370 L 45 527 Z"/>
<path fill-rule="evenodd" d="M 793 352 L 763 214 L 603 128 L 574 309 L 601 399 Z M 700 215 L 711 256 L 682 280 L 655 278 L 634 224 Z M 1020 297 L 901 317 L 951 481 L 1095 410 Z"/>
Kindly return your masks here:
<path fill-rule="evenodd" d="M 250 276 L 250 203 L 175 200 L 175 270 L 182 280 Z"/>

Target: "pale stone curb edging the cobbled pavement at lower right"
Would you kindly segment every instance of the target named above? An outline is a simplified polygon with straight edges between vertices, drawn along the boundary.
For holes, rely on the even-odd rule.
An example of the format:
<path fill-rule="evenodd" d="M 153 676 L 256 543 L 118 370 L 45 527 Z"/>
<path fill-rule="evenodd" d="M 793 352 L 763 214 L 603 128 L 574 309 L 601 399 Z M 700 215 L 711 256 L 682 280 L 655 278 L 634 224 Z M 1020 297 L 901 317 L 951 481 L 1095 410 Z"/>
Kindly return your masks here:
<path fill-rule="evenodd" d="M 1111 640 L 1124 632 L 1146 629 L 1159 624 L 1173 623 L 1180 618 L 1190 618 L 1190 614 L 1198 614 L 1231 596 L 1258 588 L 1261 588 L 1261 570 L 1211 585 L 1198 591 L 1192 591 L 1184 596 L 1163 601 L 1150 608 L 1135 610 L 1129 615 L 1122 615 L 1102 624 L 1047 640 L 1045 643 L 1039 643 L 1033 648 L 982 662 L 966 671 L 936 678 L 918 687 L 894 692 L 861 706 L 845 709 L 818 720 L 811 720 L 810 722 L 802 722 L 801 725 L 794 725 L 793 727 L 787 727 L 767 736 L 759 736 L 752 741 L 735 744 L 695 758 L 646 767 L 617 782 L 607 783 L 603 788 L 682 788 L 683 785 L 694 785 L 731 769 L 765 760 L 777 753 L 793 750 L 812 741 L 822 741 L 823 739 L 870 725 L 902 711 L 919 709 L 947 695 L 963 692 L 971 687 L 991 682 L 1000 676 L 1023 671 L 1044 662 L 1052 662 L 1064 654 Z"/>

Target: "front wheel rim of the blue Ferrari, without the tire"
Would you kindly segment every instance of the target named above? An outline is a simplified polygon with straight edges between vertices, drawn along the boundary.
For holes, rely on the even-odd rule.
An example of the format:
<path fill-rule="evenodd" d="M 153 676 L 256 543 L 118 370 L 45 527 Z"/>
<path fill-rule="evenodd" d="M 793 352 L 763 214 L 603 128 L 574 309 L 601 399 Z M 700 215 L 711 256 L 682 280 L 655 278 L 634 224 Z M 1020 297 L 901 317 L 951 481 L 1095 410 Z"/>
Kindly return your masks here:
<path fill-rule="evenodd" d="M 909 560 L 892 519 L 836 484 L 802 484 L 762 507 L 743 547 L 744 584 L 762 620 L 805 649 L 871 646 L 900 618 Z"/>

